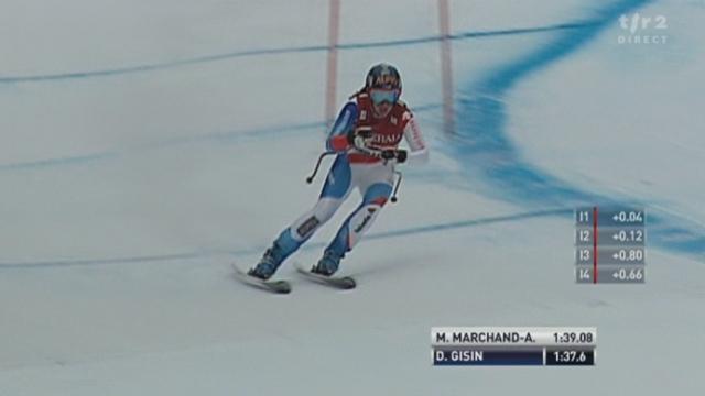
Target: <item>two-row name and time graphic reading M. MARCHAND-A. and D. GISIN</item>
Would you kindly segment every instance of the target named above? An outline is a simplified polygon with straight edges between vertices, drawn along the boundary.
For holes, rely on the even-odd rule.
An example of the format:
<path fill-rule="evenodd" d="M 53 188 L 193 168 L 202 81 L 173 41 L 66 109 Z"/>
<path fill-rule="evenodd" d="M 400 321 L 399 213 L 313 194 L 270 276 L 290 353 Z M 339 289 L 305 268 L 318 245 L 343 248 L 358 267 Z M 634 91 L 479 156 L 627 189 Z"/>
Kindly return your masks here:
<path fill-rule="evenodd" d="M 597 329 L 433 328 L 434 366 L 594 366 Z"/>

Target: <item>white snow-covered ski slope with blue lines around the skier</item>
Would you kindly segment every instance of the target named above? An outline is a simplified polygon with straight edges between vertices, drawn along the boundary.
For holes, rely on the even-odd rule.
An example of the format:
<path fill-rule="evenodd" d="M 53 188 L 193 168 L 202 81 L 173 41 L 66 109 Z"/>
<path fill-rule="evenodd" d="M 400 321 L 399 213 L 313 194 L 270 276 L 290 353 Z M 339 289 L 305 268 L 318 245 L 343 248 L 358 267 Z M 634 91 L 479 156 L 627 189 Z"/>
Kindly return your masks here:
<path fill-rule="evenodd" d="M 702 393 L 703 3 L 453 2 L 482 34 L 454 42 L 444 136 L 436 44 L 365 44 L 435 35 L 435 2 L 343 2 L 338 99 L 398 64 L 432 161 L 346 258 L 358 289 L 289 265 L 271 296 L 229 264 L 317 197 L 326 4 L 7 1 L 0 395 Z M 634 11 L 673 41 L 618 47 Z M 646 285 L 573 283 L 570 210 L 595 201 L 653 209 Z M 434 369 L 434 326 L 595 326 L 597 365 Z"/>

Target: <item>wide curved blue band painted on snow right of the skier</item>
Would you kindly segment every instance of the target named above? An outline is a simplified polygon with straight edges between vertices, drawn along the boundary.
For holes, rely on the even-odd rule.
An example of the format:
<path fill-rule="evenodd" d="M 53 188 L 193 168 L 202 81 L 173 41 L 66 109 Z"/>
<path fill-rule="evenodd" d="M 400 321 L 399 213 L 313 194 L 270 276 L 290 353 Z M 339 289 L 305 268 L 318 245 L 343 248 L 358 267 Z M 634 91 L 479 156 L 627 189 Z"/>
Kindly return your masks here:
<path fill-rule="evenodd" d="M 598 13 L 596 22 L 576 30 L 558 32 L 554 41 L 539 51 L 490 72 L 479 82 L 466 88 L 459 100 L 457 136 L 445 150 L 463 163 L 468 178 L 481 177 L 503 199 L 528 206 L 614 205 L 616 199 L 593 194 L 560 180 L 521 158 L 506 131 L 505 95 L 522 78 L 550 66 L 553 62 L 581 48 L 608 23 L 648 0 L 618 1 Z M 630 204 L 633 204 L 631 201 Z M 665 213 L 649 215 L 650 242 L 665 249 L 705 257 L 705 232 L 691 228 L 685 219 Z"/>

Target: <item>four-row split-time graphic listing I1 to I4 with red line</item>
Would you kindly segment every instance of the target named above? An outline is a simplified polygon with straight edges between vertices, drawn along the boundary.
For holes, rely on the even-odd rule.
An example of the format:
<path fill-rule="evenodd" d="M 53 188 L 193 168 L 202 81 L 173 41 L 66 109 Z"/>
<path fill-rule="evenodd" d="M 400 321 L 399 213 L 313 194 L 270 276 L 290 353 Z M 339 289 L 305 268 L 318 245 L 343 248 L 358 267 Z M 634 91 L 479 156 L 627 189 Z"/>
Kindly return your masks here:
<path fill-rule="evenodd" d="M 575 210 L 575 282 L 643 284 L 647 213 L 643 208 Z"/>

